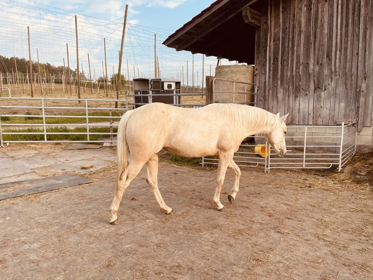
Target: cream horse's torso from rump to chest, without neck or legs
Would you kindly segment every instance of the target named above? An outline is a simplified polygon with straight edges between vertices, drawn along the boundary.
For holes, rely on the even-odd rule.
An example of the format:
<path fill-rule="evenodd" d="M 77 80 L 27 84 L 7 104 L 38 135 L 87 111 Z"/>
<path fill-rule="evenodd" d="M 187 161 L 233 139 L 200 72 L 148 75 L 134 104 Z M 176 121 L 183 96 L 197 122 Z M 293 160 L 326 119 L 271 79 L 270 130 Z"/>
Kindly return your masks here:
<path fill-rule="evenodd" d="M 219 149 L 234 149 L 242 141 L 242 133 L 234 120 L 217 107 L 143 105 L 133 110 L 127 123 L 130 150 L 148 156 L 164 148 L 180 156 L 202 157 L 216 155 Z"/>

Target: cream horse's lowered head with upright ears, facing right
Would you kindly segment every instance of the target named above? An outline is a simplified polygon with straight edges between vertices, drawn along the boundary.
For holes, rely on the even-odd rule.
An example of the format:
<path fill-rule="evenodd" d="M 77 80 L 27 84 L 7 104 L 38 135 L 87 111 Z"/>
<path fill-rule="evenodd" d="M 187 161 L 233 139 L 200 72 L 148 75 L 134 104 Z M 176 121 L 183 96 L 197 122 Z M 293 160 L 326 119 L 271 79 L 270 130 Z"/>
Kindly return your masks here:
<path fill-rule="evenodd" d="M 287 131 L 285 120 L 289 113 L 285 116 L 280 117 L 280 113 L 276 115 L 278 121 L 276 125 L 272 128 L 269 133 L 264 134 L 264 139 L 271 144 L 273 149 L 276 152 L 276 155 L 279 157 L 286 156 L 286 143 L 285 143 L 285 134 Z"/>

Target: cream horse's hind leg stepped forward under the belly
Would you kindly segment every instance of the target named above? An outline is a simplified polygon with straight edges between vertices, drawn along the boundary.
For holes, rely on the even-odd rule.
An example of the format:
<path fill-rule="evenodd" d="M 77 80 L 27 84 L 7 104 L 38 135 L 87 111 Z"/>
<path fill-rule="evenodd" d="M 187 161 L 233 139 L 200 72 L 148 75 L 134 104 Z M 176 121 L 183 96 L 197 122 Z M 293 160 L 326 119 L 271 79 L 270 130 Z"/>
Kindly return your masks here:
<path fill-rule="evenodd" d="M 161 208 L 161 210 L 164 210 L 166 214 L 172 214 L 173 213 L 172 208 L 166 205 L 158 189 L 158 155 L 157 154 L 154 154 L 147 161 L 147 168 L 148 168 L 147 182 L 153 191 L 154 197 L 159 204 L 159 208 Z"/>

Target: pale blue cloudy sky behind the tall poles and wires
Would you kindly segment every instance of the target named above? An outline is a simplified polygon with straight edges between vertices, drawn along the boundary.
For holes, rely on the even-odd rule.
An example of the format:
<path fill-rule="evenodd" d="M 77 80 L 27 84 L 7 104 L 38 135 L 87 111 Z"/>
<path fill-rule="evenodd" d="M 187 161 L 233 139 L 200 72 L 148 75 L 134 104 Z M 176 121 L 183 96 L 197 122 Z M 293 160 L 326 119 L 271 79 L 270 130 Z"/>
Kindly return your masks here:
<path fill-rule="evenodd" d="M 104 4 L 103 4 L 104 3 Z M 129 79 L 154 77 L 154 34 L 161 77 L 195 80 L 214 75 L 216 57 L 176 52 L 162 44 L 174 31 L 213 3 L 212 0 L 2 0 L 0 1 L 0 55 L 29 59 L 28 31 L 31 37 L 31 59 L 77 68 L 75 16 L 79 37 L 79 67 L 88 72 L 89 63 L 96 76 L 103 75 L 106 57 L 108 76 L 118 69 L 118 52 L 126 4 L 129 5 L 122 69 Z M 88 61 L 90 60 L 90 61 Z M 193 61 L 193 68 L 192 68 Z M 223 65 L 235 61 L 224 61 Z M 80 71 L 82 71 L 80 69 Z M 204 70 L 204 71 L 203 71 Z M 8 69 L 11 72 L 11 69 Z M 204 72 L 204 73 L 202 73 Z"/>

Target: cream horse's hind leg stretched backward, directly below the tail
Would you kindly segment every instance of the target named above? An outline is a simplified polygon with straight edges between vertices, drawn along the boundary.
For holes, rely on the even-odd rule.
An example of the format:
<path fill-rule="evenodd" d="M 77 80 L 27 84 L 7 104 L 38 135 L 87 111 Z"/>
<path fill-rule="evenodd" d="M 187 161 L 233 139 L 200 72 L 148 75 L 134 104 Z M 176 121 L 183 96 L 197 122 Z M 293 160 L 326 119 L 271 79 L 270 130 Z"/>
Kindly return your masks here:
<path fill-rule="evenodd" d="M 127 189 L 128 185 L 131 183 L 131 181 L 137 176 L 137 174 L 139 174 L 143 165 L 144 163 L 135 163 L 133 160 L 131 160 L 127 166 L 127 170 L 125 170 L 125 172 L 123 173 L 122 178 L 119 179 L 119 182 L 116 185 L 112 205 L 110 206 L 109 210 L 111 214 L 111 224 L 118 223 L 118 218 L 116 214 L 118 212 L 119 204 L 122 200 L 123 193 Z"/>

